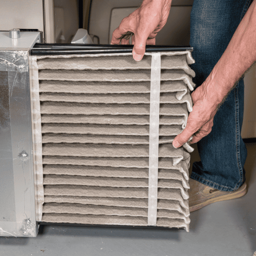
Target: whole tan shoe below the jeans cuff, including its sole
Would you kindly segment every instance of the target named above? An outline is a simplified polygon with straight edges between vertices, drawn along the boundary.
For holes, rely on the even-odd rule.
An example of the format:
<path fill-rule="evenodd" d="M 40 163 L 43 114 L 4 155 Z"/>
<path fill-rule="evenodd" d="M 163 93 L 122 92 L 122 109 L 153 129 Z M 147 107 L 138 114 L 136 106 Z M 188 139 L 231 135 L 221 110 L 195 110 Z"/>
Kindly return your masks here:
<path fill-rule="evenodd" d="M 194 212 L 208 204 L 239 198 L 246 194 L 246 183 L 236 191 L 221 191 L 189 179 L 189 211 Z"/>

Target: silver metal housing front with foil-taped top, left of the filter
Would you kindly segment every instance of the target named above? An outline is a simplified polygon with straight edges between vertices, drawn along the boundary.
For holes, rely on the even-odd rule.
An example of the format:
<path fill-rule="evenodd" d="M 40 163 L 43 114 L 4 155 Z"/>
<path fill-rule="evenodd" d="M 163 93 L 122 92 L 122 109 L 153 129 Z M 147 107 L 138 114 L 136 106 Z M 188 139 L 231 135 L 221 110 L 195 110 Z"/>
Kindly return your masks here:
<path fill-rule="evenodd" d="M 0 50 L 0 236 L 35 237 L 29 48 L 17 49 Z"/>

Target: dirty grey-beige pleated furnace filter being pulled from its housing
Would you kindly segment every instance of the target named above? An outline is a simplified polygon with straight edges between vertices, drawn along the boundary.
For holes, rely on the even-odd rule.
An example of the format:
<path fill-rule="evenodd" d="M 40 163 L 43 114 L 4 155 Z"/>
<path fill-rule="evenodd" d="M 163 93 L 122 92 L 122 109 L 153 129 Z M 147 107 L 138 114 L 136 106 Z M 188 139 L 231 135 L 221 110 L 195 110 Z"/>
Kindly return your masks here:
<path fill-rule="evenodd" d="M 189 231 L 191 52 L 30 59 L 38 221 Z"/>

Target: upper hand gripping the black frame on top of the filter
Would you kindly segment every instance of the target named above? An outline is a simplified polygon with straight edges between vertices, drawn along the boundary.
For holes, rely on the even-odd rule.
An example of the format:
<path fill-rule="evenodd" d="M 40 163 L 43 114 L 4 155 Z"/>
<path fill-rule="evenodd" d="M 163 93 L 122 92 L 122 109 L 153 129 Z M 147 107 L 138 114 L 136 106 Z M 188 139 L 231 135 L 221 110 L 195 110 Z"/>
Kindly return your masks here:
<path fill-rule="evenodd" d="M 129 44 L 131 37 L 135 61 L 145 54 L 146 44 L 156 44 L 157 33 L 166 24 L 172 0 L 144 0 L 142 5 L 125 17 L 112 34 L 111 44 Z"/>

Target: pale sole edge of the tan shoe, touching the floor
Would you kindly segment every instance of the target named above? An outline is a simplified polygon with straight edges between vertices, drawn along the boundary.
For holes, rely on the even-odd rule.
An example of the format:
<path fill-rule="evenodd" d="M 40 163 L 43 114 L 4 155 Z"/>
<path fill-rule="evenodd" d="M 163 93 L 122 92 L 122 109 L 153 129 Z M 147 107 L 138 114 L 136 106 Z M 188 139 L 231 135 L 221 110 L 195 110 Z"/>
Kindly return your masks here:
<path fill-rule="evenodd" d="M 194 212 L 198 209 L 201 209 L 202 207 L 207 206 L 208 204 L 212 204 L 215 202 L 239 198 L 239 197 L 245 195 L 246 192 L 247 192 L 246 183 L 244 183 L 238 190 L 236 190 L 236 192 L 233 192 L 232 194 L 221 195 L 216 198 L 211 198 L 201 204 L 196 204 L 196 205 L 193 205 L 192 207 L 189 207 L 189 212 Z"/>

